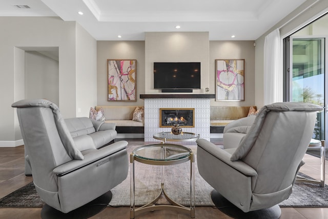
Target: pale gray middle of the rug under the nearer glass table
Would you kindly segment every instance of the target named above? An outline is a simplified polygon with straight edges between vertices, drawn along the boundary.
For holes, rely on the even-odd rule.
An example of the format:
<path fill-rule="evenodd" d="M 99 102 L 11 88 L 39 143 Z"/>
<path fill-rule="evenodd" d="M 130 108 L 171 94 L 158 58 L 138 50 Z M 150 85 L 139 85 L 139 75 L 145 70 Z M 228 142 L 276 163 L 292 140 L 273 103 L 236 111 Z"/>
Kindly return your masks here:
<path fill-rule="evenodd" d="M 197 146 L 186 145 L 196 153 Z M 130 154 L 135 147 L 129 147 Z M 197 159 L 195 159 L 197 160 Z M 152 200 L 160 192 L 161 166 L 147 165 L 135 162 L 135 205 L 142 206 Z M 164 189 L 173 201 L 190 206 L 190 161 L 182 164 L 164 167 Z M 214 206 L 211 200 L 213 188 L 203 180 L 197 170 L 195 162 L 195 204 L 196 206 Z M 121 184 L 113 188 L 111 206 L 130 206 L 130 168 L 128 177 Z M 158 204 L 167 204 L 165 197 L 161 197 Z"/>

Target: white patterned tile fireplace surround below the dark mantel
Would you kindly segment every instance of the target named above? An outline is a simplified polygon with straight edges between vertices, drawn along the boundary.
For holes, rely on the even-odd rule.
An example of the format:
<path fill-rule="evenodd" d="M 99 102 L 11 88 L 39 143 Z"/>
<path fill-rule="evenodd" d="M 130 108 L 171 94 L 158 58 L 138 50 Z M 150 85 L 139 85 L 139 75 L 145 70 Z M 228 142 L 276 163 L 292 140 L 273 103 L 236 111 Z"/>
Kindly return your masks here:
<path fill-rule="evenodd" d="M 140 95 L 140 98 L 145 96 L 145 142 L 155 142 L 153 134 L 162 131 L 171 131 L 171 128 L 159 127 L 159 109 L 160 108 L 195 108 L 195 127 L 182 128 L 182 131 L 193 132 L 210 141 L 210 98 L 197 98 L 197 95 L 188 95 L 187 98 L 182 98 L 181 95 L 176 95 L 177 98 L 161 98 L 160 95 Z M 156 97 L 155 97 L 156 96 Z M 167 96 L 167 95 L 166 95 Z M 174 94 L 171 94 L 174 97 Z M 180 98 L 181 97 L 181 98 Z"/>

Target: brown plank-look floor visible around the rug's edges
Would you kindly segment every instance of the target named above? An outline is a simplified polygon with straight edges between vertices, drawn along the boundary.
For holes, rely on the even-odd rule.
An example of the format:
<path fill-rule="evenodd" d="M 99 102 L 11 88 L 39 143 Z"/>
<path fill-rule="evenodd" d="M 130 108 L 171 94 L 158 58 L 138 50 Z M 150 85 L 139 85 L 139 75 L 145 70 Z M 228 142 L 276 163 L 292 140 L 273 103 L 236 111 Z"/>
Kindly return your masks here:
<path fill-rule="evenodd" d="M 139 140 L 127 140 L 135 144 L 144 144 Z M 215 142 L 217 140 L 211 140 Z M 320 159 L 315 156 L 305 154 L 305 165 L 301 168 L 301 172 L 310 175 L 314 178 L 320 177 Z M 328 163 L 328 162 L 327 162 Z M 328 165 L 326 166 L 326 168 Z M 325 174 L 328 179 L 328 174 Z M 23 187 L 32 181 L 31 176 L 24 174 L 24 147 L 19 146 L 15 148 L 0 148 L 0 198 Z M 328 183 L 326 183 L 328 184 Z M 40 217 L 41 208 L 0 208 L 0 218 L 2 219 L 37 219 Z M 328 219 L 328 208 L 281 208 L 281 219 Z M 96 218 L 130 218 L 129 207 L 107 207 L 97 215 L 91 217 Z M 161 210 L 154 212 L 147 212 L 137 215 L 136 218 L 156 218 L 156 219 L 183 219 L 190 218 L 188 214 L 177 213 L 175 211 Z M 195 218 L 231 218 L 221 211 L 213 207 L 196 207 Z"/>

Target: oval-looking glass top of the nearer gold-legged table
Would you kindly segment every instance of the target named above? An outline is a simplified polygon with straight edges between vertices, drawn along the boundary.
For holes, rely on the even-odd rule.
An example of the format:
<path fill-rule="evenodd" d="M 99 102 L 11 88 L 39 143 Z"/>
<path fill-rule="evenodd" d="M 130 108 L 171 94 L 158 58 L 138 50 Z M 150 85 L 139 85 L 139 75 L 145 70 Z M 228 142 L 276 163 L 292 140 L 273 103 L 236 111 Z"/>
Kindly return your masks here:
<path fill-rule="evenodd" d="M 175 144 L 152 144 L 137 147 L 132 154 L 149 161 L 176 161 L 189 157 L 190 148 Z"/>

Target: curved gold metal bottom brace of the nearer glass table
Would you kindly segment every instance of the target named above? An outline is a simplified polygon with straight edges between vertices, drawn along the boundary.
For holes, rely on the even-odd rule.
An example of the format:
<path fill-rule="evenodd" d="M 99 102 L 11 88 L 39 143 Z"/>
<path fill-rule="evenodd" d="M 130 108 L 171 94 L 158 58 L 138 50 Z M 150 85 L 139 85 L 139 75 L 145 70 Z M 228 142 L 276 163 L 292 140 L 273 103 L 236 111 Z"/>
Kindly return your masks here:
<path fill-rule="evenodd" d="M 159 200 L 161 194 L 163 194 L 166 197 L 166 200 L 171 205 L 155 205 L 155 203 Z M 130 218 L 134 218 L 134 216 L 137 213 L 142 213 L 142 212 L 147 212 L 147 211 L 155 211 L 155 210 L 175 210 L 178 212 L 190 213 L 190 217 L 192 217 L 192 218 L 195 217 L 195 208 L 190 208 L 190 207 L 188 208 L 186 206 L 183 206 L 183 205 L 180 205 L 180 204 L 174 202 L 168 196 L 168 194 L 165 192 L 163 183 L 161 184 L 161 190 L 160 190 L 158 196 L 155 197 L 155 199 L 153 201 L 151 201 L 150 203 L 135 209 L 134 212 L 131 211 L 132 215 L 130 215 Z"/>

